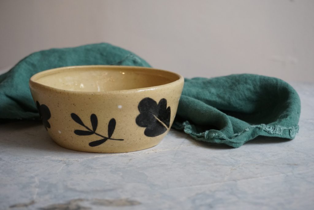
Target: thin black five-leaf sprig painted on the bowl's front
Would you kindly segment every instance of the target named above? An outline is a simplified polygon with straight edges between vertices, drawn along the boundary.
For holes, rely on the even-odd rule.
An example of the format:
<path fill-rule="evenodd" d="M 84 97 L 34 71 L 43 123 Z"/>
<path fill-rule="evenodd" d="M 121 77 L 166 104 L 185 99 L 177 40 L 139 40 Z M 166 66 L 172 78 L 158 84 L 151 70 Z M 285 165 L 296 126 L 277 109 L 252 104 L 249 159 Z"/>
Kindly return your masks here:
<path fill-rule="evenodd" d="M 102 137 L 102 139 L 100 140 L 97 140 L 97 141 L 92 141 L 89 143 L 89 146 L 99 146 L 100 144 L 102 143 L 105 143 L 108 139 L 110 140 L 117 140 L 117 141 L 123 141 L 123 139 L 114 139 L 114 138 L 111 138 L 112 134 L 113 134 L 113 131 L 115 130 L 116 128 L 116 120 L 114 118 L 112 118 L 109 123 L 108 123 L 108 137 L 106 136 L 103 136 L 103 135 L 100 135 L 98 133 L 96 133 L 96 129 L 97 129 L 97 125 L 98 125 L 98 119 L 97 119 L 97 116 L 96 114 L 91 114 L 90 115 L 90 123 L 92 125 L 92 129 L 90 129 L 89 127 L 87 127 L 83 121 L 78 117 L 77 114 L 75 113 L 72 113 L 71 114 L 71 117 L 72 119 L 82 125 L 84 128 L 86 128 L 87 130 L 74 130 L 74 133 L 76 135 L 98 135 L 100 137 Z"/>

